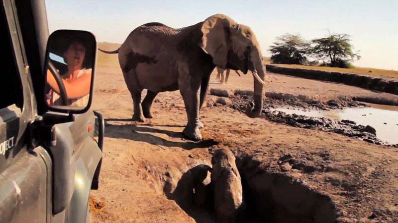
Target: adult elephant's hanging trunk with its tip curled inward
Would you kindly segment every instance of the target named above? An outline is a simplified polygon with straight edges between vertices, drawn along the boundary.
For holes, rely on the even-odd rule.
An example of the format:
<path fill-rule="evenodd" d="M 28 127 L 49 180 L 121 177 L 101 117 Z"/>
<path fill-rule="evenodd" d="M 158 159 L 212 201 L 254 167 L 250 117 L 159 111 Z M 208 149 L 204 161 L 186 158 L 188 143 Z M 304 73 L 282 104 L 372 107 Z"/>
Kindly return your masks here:
<path fill-rule="evenodd" d="M 263 60 L 261 59 L 260 56 L 258 61 L 255 61 L 253 63 L 254 70 L 252 70 L 253 79 L 254 79 L 254 94 L 253 94 L 254 106 L 252 105 L 252 103 L 250 103 L 246 110 L 247 116 L 251 118 L 258 117 L 263 108 L 265 64 L 263 63 Z"/>

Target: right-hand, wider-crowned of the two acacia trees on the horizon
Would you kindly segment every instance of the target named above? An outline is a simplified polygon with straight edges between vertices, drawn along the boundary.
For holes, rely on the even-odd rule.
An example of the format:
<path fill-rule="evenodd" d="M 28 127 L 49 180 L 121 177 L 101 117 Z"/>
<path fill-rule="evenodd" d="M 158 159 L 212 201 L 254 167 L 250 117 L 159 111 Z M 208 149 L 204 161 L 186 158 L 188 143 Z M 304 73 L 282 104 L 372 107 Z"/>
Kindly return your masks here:
<path fill-rule="evenodd" d="M 317 59 L 323 60 L 325 65 L 348 68 L 351 66 L 351 61 L 361 58 L 359 51 L 353 52 L 350 41 L 348 34 L 331 34 L 329 32 L 328 37 L 311 41 L 314 44 L 311 53 Z"/>

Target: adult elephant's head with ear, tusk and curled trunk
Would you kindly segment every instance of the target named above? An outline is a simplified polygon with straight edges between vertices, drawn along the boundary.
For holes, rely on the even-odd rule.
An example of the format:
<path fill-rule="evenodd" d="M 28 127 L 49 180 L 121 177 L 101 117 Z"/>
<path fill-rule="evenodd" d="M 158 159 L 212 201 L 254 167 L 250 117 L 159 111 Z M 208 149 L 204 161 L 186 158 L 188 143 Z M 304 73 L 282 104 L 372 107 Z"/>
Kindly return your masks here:
<path fill-rule="evenodd" d="M 257 117 L 263 107 L 265 64 L 260 45 L 250 27 L 236 23 L 226 15 L 215 14 L 204 20 L 201 49 L 221 68 L 251 70 L 254 78 L 254 106 L 246 114 Z"/>

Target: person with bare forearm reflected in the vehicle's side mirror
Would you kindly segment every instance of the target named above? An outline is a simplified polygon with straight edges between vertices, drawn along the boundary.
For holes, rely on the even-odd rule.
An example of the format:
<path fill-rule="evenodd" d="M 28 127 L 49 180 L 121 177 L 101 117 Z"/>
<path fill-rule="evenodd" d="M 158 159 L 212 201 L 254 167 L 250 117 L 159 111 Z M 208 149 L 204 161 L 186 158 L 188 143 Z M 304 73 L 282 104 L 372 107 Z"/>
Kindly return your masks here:
<path fill-rule="evenodd" d="M 89 101 L 92 65 L 89 67 L 83 66 L 83 64 L 86 50 L 92 49 L 86 49 L 84 41 L 79 38 L 69 39 L 62 49 L 67 69 L 60 75 L 68 96 L 68 105 L 86 107 Z M 47 93 L 48 105 L 62 105 L 58 84 L 50 70 L 47 70 L 47 84 L 50 86 Z"/>

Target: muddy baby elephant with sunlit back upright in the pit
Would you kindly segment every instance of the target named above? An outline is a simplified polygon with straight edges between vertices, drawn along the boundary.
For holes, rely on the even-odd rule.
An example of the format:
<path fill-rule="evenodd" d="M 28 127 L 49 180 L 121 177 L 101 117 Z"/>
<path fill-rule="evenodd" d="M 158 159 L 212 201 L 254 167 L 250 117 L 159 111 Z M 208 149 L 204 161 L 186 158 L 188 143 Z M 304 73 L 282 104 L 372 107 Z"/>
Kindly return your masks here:
<path fill-rule="evenodd" d="M 235 156 L 227 149 L 219 149 L 211 158 L 211 184 L 214 189 L 214 210 L 218 223 L 234 223 L 244 208 L 240 174 Z"/>

